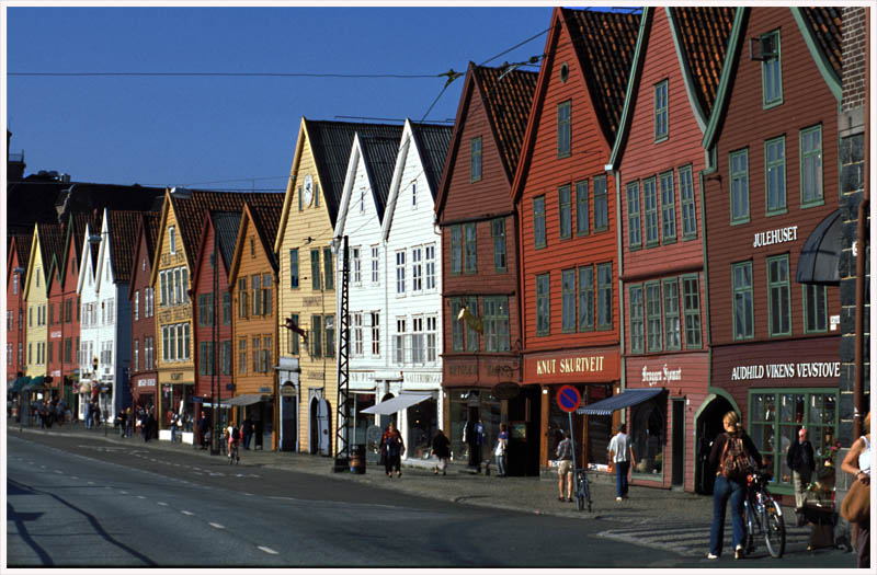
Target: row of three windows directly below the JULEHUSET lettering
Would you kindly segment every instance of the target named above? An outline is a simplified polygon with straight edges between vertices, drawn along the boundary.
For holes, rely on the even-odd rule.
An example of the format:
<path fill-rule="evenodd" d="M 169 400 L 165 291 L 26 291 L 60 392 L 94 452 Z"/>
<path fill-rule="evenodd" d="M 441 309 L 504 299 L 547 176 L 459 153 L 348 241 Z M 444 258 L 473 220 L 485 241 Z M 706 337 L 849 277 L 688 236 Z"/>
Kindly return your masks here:
<path fill-rule="evenodd" d="M 767 333 L 771 337 L 791 335 L 791 280 L 788 254 L 767 258 Z M 804 331 L 828 331 L 828 296 L 825 286 L 806 285 L 804 290 Z M 732 264 L 731 289 L 733 338 L 755 337 L 752 261 Z"/>

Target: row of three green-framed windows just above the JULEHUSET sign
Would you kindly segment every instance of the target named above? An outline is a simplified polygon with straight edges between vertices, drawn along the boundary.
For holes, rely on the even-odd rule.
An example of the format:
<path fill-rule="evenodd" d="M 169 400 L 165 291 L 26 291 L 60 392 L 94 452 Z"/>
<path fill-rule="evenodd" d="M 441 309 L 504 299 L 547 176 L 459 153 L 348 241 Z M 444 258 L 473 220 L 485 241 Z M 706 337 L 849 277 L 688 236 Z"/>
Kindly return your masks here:
<path fill-rule="evenodd" d="M 822 193 L 822 126 L 800 130 L 799 170 L 800 207 L 821 206 Z M 750 218 L 749 149 L 730 153 L 728 160 L 731 179 L 731 225 L 747 223 Z M 765 214 L 774 216 L 788 211 L 786 194 L 786 137 L 778 136 L 764 142 Z"/>

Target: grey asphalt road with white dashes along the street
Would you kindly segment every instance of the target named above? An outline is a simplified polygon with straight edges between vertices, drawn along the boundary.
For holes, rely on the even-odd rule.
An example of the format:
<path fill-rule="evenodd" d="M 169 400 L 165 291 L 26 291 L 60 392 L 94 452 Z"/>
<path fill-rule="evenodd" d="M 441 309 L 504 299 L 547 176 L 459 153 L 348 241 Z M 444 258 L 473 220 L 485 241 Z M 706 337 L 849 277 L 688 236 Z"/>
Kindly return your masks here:
<path fill-rule="evenodd" d="M 582 521 L 455 505 L 224 458 L 8 436 L 7 562 L 16 566 L 793 567 L 661 549 L 672 526 Z M 703 528 L 702 528 L 703 529 Z M 677 531 L 676 531 L 677 532 Z M 620 533 L 620 534 L 619 534 Z M 706 532 L 708 539 L 708 528 Z M 642 543 L 638 543 L 641 540 Z M 848 556 L 848 555 L 847 555 Z"/>

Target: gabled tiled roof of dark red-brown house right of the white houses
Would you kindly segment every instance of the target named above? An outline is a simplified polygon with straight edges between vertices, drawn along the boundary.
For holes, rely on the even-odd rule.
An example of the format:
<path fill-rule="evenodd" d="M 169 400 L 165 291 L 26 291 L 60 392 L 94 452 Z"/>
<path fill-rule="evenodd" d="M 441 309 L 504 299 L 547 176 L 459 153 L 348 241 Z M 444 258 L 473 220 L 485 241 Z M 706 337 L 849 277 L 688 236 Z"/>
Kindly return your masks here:
<path fill-rule="evenodd" d="M 457 116 L 451 133 L 447 154 L 442 169 L 442 176 L 435 188 L 435 212 L 441 214 L 451 185 L 451 171 L 456 162 L 462 145 L 463 133 L 470 115 L 469 105 L 475 90 L 478 90 L 485 106 L 485 114 L 490 123 L 493 141 L 499 148 L 505 175 L 511 183 L 514 179 L 521 147 L 527 128 L 527 118 L 536 92 L 538 72 L 512 70 L 503 73 L 503 68 L 489 68 L 469 62 L 463 93 L 457 104 Z"/>

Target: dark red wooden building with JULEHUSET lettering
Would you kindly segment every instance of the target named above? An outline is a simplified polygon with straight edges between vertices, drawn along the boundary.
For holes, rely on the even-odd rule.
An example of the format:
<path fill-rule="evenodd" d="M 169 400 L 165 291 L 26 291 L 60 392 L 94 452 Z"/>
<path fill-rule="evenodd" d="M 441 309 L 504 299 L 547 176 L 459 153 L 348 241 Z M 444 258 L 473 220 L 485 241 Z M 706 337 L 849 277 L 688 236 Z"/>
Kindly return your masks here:
<path fill-rule="evenodd" d="M 739 9 L 704 137 L 709 391 L 743 415 L 778 493 L 798 427 L 820 461 L 838 441 L 838 261 L 815 276 L 828 254 L 810 243 L 839 232 L 840 25 L 836 8 Z"/>

